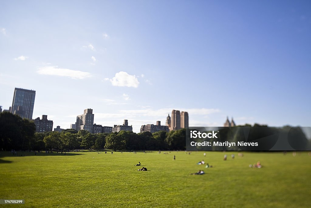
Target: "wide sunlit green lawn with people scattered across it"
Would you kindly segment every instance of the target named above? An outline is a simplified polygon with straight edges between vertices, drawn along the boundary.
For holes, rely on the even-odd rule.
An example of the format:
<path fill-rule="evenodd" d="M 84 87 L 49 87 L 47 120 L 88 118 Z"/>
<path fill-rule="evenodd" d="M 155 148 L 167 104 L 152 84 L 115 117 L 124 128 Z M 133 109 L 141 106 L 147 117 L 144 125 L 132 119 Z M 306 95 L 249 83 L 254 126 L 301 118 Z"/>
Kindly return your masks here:
<path fill-rule="evenodd" d="M 12 156 L 0 152 L 8 207 L 310 207 L 308 152 L 97 152 Z M 223 161 L 224 154 L 228 155 Z M 173 156 L 176 155 L 176 161 Z M 204 159 L 212 168 L 196 163 Z M 137 171 L 141 162 L 147 172 Z M 249 164 L 261 161 L 262 168 Z M 204 169 L 204 175 L 189 175 Z"/>

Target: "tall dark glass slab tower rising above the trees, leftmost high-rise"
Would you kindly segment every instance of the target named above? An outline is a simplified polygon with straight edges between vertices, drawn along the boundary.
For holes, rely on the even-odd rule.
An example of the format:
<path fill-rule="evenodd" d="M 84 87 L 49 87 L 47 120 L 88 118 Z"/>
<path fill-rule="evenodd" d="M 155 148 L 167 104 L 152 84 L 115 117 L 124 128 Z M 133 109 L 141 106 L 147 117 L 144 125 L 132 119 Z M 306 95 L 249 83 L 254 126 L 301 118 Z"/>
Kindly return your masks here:
<path fill-rule="evenodd" d="M 32 119 L 35 95 L 34 90 L 15 88 L 10 112 L 22 118 Z"/>

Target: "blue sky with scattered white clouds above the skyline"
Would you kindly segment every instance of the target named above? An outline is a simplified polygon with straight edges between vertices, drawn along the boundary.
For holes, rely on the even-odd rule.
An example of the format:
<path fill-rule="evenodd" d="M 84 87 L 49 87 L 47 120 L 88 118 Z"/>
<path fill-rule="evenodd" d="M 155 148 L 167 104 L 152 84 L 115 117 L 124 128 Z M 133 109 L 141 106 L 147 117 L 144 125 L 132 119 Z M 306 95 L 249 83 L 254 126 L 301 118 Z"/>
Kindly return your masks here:
<path fill-rule="evenodd" d="M 310 1 L 2 1 L 0 105 L 133 131 L 172 109 L 190 126 L 310 126 Z"/>

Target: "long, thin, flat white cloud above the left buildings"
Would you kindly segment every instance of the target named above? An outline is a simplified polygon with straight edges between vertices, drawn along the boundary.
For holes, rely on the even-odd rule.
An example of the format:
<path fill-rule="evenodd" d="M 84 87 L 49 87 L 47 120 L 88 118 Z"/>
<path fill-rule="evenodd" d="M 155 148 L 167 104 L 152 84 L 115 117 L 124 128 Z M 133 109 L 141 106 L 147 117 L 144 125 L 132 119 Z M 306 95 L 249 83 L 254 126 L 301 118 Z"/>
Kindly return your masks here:
<path fill-rule="evenodd" d="M 41 75 L 65 76 L 65 77 L 70 77 L 72 79 L 79 79 L 79 80 L 92 76 L 89 72 L 71 70 L 71 69 L 63 69 L 63 68 L 58 68 L 58 66 L 44 66 L 44 67 L 38 68 L 37 73 Z"/>

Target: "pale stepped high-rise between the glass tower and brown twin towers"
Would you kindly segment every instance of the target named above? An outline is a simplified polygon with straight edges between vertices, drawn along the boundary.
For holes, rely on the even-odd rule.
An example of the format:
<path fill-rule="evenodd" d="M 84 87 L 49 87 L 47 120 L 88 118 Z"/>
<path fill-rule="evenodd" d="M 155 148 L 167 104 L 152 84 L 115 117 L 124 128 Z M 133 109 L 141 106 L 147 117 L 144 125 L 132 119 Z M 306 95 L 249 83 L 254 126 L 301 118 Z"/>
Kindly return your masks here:
<path fill-rule="evenodd" d="M 90 133 L 93 133 L 93 123 L 93 109 L 85 109 L 84 114 L 77 116 L 76 130 L 86 130 Z"/>

